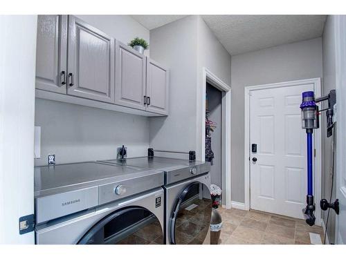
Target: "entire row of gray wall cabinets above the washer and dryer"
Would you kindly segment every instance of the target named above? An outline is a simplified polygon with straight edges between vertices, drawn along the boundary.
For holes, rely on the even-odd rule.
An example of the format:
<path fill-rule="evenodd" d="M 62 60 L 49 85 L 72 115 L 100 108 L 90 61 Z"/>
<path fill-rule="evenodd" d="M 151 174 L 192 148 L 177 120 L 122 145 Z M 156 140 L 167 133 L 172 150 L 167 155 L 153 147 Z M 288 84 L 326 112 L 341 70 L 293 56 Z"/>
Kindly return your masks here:
<path fill-rule="evenodd" d="M 165 67 L 81 19 L 38 16 L 36 97 L 160 116 L 168 81 Z"/>

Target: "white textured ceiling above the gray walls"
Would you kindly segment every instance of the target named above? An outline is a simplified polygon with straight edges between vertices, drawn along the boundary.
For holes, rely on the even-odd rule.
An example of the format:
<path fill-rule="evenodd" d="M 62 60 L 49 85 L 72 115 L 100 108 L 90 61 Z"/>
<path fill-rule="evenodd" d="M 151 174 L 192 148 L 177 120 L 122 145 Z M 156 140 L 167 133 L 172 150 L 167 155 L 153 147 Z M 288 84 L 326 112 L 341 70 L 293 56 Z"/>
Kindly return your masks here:
<path fill-rule="evenodd" d="M 132 15 L 152 30 L 186 15 Z M 322 35 L 325 15 L 202 15 L 230 55 Z"/>

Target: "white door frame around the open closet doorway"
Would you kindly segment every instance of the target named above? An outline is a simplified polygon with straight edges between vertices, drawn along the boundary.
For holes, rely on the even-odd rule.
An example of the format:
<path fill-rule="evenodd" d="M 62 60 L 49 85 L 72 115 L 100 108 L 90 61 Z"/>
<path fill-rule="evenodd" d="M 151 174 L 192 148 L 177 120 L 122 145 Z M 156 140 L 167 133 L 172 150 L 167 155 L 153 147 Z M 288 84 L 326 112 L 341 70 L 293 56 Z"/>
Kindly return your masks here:
<path fill-rule="evenodd" d="M 221 133 L 221 150 L 224 151 L 222 154 L 222 160 L 224 161 L 224 166 L 221 166 L 221 173 L 225 175 L 225 189 L 222 192 L 225 194 L 225 205 L 226 209 L 230 209 L 231 207 L 231 198 L 230 198 L 230 86 L 224 83 L 221 79 L 219 79 L 215 74 L 210 72 L 207 68 L 203 68 L 203 80 L 201 85 L 201 96 L 199 100 L 201 101 L 201 111 L 197 111 L 199 113 L 200 121 L 201 121 L 201 154 L 204 160 L 206 157 L 206 83 L 207 81 L 215 86 L 215 88 L 224 92 L 222 97 L 222 117 L 224 125 L 224 132 Z"/>

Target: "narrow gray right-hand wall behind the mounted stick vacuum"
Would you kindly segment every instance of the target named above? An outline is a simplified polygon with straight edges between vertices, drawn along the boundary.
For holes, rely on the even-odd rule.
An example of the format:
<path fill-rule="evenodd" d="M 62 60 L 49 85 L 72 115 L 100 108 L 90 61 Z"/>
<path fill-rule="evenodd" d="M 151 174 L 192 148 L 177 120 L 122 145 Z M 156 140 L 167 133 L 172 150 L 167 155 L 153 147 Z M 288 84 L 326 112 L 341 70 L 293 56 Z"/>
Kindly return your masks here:
<path fill-rule="evenodd" d="M 329 90 L 336 88 L 336 35 L 335 35 L 335 16 L 327 17 L 325 29 L 322 35 L 323 49 L 323 81 L 322 95 L 327 95 Z M 323 102 L 323 108 L 327 108 L 327 102 Z M 327 137 L 327 122 L 325 113 L 320 117 L 320 127 L 322 128 L 322 198 L 329 200 L 331 192 L 331 166 L 332 166 L 332 140 Z M 334 178 L 336 186 L 336 177 Z M 335 199 L 335 191 L 332 199 Z M 335 242 L 335 212 L 330 210 L 327 235 L 329 242 Z M 327 222 L 327 211 L 322 211 L 322 218 Z"/>

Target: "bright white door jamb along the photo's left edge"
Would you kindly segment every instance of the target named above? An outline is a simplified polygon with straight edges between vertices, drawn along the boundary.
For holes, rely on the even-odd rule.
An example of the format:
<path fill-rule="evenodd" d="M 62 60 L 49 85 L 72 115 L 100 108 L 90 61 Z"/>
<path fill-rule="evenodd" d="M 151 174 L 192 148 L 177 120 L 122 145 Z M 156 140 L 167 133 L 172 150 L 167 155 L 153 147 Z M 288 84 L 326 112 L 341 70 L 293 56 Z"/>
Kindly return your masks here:
<path fill-rule="evenodd" d="M 34 213 L 37 16 L 0 16 L 0 244 L 33 244 L 19 218 Z"/>

